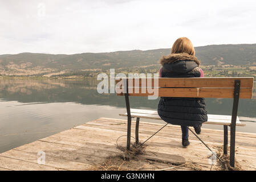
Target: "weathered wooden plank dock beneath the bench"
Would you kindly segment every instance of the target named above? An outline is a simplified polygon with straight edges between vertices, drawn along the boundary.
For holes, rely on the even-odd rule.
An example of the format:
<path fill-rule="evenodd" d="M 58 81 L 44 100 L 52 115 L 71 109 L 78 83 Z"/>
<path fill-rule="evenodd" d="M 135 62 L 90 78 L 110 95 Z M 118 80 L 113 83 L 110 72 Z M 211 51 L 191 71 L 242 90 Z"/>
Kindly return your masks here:
<path fill-rule="evenodd" d="M 210 164 L 210 151 L 190 133 L 190 146 L 181 145 L 179 126 L 167 125 L 145 143 L 143 154 L 123 160 L 127 121 L 99 118 L 50 137 L 13 148 L 0 154 L 0 170 L 217 170 Z M 140 122 L 140 140 L 144 141 L 162 124 Z M 135 122 L 132 122 L 132 136 Z M 123 137 L 121 137 L 123 136 Z M 202 129 L 201 139 L 214 151 L 223 144 L 223 131 Z M 243 170 L 256 169 L 256 134 L 236 135 L 237 164 Z M 133 139 L 132 142 L 135 142 Z M 45 164 L 38 164 L 43 151 Z M 39 155 L 38 155 L 39 154 Z"/>

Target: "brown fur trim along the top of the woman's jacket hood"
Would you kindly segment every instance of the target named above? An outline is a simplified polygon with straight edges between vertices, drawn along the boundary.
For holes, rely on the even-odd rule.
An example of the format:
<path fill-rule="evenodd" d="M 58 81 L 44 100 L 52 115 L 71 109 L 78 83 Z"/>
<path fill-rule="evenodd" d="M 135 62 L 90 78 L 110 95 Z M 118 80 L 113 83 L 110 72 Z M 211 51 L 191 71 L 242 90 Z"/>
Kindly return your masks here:
<path fill-rule="evenodd" d="M 188 53 L 172 53 L 168 56 L 162 56 L 159 60 L 161 65 L 174 63 L 175 61 L 194 61 L 198 66 L 200 65 L 200 61 L 192 55 Z"/>

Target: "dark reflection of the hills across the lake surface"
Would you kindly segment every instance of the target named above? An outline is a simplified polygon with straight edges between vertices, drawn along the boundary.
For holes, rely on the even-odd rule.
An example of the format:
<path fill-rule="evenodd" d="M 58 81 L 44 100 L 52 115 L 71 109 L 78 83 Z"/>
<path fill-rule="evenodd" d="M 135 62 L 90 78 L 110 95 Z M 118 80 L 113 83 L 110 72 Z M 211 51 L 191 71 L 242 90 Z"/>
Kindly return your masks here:
<path fill-rule="evenodd" d="M 84 105 L 107 105 L 125 107 L 124 98 L 116 94 L 99 94 L 97 81 L 88 80 L 2 80 L 0 98 L 22 103 L 31 102 L 77 102 Z M 157 109 L 159 100 L 131 97 L 132 107 Z M 210 114 L 231 114 L 232 99 L 206 98 Z M 256 100 L 239 100 L 238 115 L 256 117 Z"/>

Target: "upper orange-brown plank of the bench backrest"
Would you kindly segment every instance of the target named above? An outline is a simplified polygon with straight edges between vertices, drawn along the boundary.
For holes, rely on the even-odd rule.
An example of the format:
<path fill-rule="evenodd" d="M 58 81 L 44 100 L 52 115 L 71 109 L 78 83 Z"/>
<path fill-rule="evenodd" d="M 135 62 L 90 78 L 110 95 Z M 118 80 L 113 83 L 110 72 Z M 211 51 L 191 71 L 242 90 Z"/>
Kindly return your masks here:
<path fill-rule="evenodd" d="M 214 78 L 128 78 L 129 86 L 154 86 L 158 79 L 159 87 L 186 87 L 186 88 L 234 88 L 235 80 L 241 81 L 241 88 L 253 88 L 253 77 L 214 77 Z M 116 79 L 116 83 L 122 79 Z"/>

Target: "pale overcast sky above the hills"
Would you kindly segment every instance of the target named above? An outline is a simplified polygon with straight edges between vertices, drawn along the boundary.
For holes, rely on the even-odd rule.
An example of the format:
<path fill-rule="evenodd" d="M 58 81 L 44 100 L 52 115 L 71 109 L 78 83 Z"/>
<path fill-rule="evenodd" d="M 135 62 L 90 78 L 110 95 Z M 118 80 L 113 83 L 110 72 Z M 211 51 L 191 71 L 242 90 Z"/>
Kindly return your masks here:
<path fill-rule="evenodd" d="M 256 1 L 0 0 L 0 54 L 256 43 Z"/>

